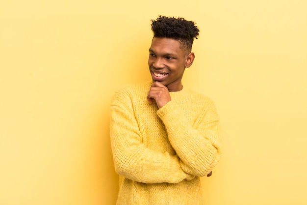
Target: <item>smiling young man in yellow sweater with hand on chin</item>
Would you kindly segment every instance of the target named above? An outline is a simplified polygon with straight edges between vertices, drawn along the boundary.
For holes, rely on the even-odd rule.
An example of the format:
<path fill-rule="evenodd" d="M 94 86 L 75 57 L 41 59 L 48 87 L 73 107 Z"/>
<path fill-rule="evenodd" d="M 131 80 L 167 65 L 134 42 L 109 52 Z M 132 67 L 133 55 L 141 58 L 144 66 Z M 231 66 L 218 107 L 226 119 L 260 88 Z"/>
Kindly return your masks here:
<path fill-rule="evenodd" d="M 221 157 L 218 115 L 209 98 L 181 84 L 199 29 L 159 16 L 152 30 L 153 81 L 125 86 L 112 100 L 117 205 L 204 205 L 200 177 L 210 176 Z"/>

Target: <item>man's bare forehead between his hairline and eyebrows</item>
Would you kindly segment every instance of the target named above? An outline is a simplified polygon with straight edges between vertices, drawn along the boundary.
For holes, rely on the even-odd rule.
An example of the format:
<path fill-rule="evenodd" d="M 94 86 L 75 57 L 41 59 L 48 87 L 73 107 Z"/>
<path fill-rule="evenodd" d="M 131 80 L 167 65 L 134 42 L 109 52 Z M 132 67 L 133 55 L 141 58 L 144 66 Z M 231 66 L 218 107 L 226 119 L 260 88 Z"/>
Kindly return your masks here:
<path fill-rule="evenodd" d="M 183 53 L 183 50 L 180 47 L 179 40 L 175 40 L 172 38 L 154 37 L 152 40 L 152 45 L 149 50 L 154 53 L 174 53 L 174 54 Z"/>

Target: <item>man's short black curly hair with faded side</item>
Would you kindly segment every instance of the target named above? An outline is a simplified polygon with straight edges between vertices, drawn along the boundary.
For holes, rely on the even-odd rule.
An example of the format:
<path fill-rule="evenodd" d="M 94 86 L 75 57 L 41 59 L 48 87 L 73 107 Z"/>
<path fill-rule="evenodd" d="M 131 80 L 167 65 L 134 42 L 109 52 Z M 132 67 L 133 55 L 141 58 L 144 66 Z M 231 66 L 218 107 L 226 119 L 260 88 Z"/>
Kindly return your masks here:
<path fill-rule="evenodd" d="M 159 16 L 156 20 L 152 20 L 152 30 L 153 37 L 179 40 L 181 46 L 189 52 L 192 50 L 194 38 L 197 39 L 199 34 L 194 22 L 181 17 Z"/>

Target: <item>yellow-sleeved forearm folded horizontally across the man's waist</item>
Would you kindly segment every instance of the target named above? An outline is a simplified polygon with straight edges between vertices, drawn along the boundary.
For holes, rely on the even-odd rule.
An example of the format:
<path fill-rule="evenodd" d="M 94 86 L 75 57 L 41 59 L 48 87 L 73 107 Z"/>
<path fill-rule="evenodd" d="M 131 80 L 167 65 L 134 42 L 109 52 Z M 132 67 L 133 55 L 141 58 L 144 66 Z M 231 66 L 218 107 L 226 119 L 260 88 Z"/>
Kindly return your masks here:
<path fill-rule="evenodd" d="M 178 183 L 184 179 L 194 178 L 182 170 L 179 157 L 176 155 L 159 153 L 143 144 L 112 150 L 116 172 L 131 180 L 143 183 Z"/>

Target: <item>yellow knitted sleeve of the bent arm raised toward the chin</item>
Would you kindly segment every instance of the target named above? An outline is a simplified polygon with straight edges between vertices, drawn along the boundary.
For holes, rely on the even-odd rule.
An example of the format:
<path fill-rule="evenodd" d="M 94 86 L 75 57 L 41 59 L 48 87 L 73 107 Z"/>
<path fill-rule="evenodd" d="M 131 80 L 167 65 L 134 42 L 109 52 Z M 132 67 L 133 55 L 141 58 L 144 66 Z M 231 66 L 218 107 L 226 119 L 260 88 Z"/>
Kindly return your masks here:
<path fill-rule="evenodd" d="M 189 174 L 206 176 L 221 158 L 218 115 L 211 100 L 194 124 L 188 122 L 175 101 L 157 111 L 167 129 L 170 143 Z"/>

